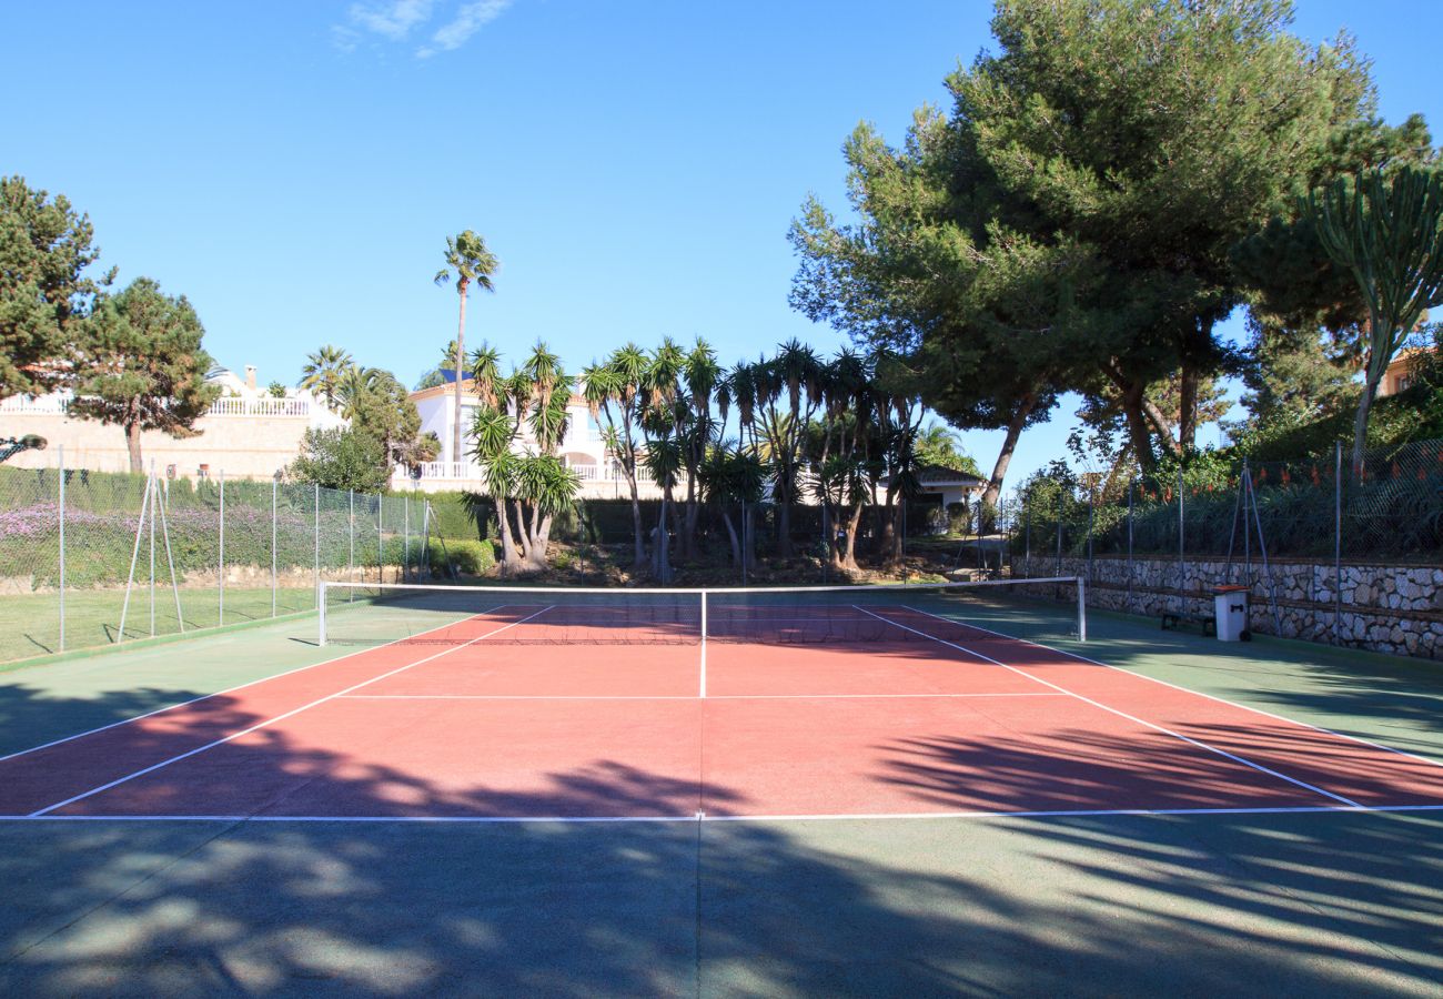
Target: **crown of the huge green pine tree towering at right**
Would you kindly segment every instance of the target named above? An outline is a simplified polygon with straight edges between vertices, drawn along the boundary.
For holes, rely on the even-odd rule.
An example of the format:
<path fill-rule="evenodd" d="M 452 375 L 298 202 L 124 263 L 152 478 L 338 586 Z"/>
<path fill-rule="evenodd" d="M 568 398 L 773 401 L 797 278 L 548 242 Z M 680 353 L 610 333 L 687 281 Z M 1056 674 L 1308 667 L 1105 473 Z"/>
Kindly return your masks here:
<path fill-rule="evenodd" d="M 854 221 L 804 205 L 794 306 L 896 351 L 955 426 L 1006 429 L 988 501 L 1065 390 L 1115 478 L 1190 449 L 1221 377 L 1251 367 L 1270 403 L 1289 365 L 1338 388 L 1352 371 L 1329 381 L 1307 352 L 1359 296 L 1296 198 L 1431 150 L 1421 120 L 1377 120 L 1351 40 L 1309 48 L 1290 19 L 1283 0 L 1000 1 L 948 113 L 921 108 L 900 146 L 848 139 Z M 1251 355 L 1215 332 L 1240 306 L 1268 339 Z"/>

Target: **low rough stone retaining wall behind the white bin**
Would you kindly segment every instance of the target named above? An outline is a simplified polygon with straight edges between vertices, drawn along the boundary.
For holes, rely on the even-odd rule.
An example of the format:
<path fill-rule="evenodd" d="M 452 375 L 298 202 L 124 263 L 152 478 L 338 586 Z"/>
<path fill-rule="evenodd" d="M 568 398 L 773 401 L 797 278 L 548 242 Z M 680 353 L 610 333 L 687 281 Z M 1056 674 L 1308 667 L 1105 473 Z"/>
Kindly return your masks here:
<path fill-rule="evenodd" d="M 1030 572 L 1020 560 L 1013 570 L 1084 576 L 1089 606 L 1149 616 L 1165 612 L 1211 616 L 1214 586 L 1250 582 L 1247 566 L 1234 562 L 1229 570 L 1221 559 L 1189 559 L 1182 572 L 1175 559 L 1141 556 L 1133 559 L 1131 567 L 1126 557 L 1095 557 L 1091 573 L 1087 559 L 1062 559 L 1061 573 L 1055 572 L 1056 564 L 1056 559 L 1033 557 Z M 1268 575 L 1253 562 L 1248 622 L 1253 631 L 1443 660 L 1443 567 L 1345 563 L 1336 590 L 1332 562 L 1290 559 L 1270 567 Z M 1276 595 L 1276 618 L 1270 592 Z"/>

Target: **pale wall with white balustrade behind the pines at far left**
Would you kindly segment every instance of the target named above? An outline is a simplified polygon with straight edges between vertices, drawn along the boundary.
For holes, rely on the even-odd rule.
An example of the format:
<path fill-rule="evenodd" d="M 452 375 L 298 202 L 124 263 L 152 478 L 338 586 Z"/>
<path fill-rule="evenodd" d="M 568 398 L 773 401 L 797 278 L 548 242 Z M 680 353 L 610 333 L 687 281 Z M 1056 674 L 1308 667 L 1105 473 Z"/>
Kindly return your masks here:
<path fill-rule="evenodd" d="M 146 465 L 170 478 L 268 479 L 300 453 L 300 440 L 312 427 L 338 427 L 346 422 L 306 390 L 287 388 L 274 397 L 255 384 L 255 368 L 244 378 L 221 368 L 206 378 L 221 387 L 221 397 L 196 420 L 196 436 L 176 439 L 157 430 L 140 436 Z M 117 426 L 69 414 L 71 393 L 12 396 L 0 400 L 0 427 L 6 436 L 35 433 L 46 450 L 23 452 L 10 468 L 49 468 L 63 448 L 66 468 L 97 472 L 130 471 L 126 435 Z"/>

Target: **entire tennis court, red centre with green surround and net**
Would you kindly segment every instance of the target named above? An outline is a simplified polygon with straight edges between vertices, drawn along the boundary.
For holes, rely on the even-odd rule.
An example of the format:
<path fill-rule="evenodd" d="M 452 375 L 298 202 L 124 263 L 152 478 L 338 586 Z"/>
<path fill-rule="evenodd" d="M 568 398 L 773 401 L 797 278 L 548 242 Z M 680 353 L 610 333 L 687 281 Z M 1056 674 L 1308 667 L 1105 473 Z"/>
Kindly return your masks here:
<path fill-rule="evenodd" d="M 0 982 L 1439 987 L 1437 680 L 1349 703 L 1336 663 L 1088 622 L 1074 593 L 328 585 L 309 635 L 97 657 L 69 729 L 9 712 L 36 738 L 0 756 L 26 885 Z M 141 681 L 188 657 L 237 681 Z M 172 924 L 137 935 L 150 905 Z M 1127 960 L 1141 931 L 1162 950 Z"/>

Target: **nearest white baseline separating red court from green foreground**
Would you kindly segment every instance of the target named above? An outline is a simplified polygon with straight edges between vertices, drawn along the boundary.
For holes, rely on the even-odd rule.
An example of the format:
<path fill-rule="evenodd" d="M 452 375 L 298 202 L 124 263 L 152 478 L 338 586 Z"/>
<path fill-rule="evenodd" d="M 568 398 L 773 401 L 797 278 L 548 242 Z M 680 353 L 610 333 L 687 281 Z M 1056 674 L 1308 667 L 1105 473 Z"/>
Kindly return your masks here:
<path fill-rule="evenodd" d="M 856 811 L 838 814 L 775 814 L 775 816 L 0 816 L 0 821 L 225 821 L 225 823 L 704 823 L 704 821 L 896 821 L 922 819 L 1107 819 L 1113 816 L 1307 816 L 1307 814 L 1408 814 L 1443 811 L 1443 804 L 1380 804 L 1380 806 L 1244 806 L 1231 808 L 1055 808 L 1032 811 L 974 810 L 974 811 Z"/>

